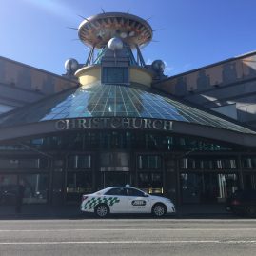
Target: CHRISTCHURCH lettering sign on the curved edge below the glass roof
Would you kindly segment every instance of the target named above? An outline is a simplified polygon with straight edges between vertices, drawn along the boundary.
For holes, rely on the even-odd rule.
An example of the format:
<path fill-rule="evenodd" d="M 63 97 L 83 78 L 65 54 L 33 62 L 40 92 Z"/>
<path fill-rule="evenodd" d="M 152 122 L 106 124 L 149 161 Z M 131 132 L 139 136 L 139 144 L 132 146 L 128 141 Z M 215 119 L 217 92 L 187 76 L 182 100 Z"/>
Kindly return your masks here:
<path fill-rule="evenodd" d="M 172 121 L 163 119 L 130 118 L 130 117 L 88 117 L 60 119 L 55 123 L 57 130 L 69 129 L 151 129 L 172 130 Z"/>

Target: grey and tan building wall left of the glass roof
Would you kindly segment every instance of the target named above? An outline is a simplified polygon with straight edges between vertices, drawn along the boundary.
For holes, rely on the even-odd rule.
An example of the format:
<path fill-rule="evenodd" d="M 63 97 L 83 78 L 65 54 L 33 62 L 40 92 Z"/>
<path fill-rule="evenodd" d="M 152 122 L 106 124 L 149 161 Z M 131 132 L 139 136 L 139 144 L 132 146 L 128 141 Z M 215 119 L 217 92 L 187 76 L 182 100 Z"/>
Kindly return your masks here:
<path fill-rule="evenodd" d="M 0 114 L 76 85 L 62 76 L 0 56 Z"/>

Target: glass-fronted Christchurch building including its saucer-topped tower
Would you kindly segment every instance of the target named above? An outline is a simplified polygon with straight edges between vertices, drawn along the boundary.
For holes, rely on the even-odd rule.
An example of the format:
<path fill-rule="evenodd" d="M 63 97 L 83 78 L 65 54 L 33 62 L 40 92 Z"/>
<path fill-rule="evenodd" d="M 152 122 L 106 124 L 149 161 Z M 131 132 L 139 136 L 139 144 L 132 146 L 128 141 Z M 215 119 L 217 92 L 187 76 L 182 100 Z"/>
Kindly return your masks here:
<path fill-rule="evenodd" d="M 2 190 L 23 180 L 25 203 L 55 206 L 126 184 L 176 204 L 224 203 L 256 188 L 256 132 L 188 103 L 191 92 L 164 75 L 162 61 L 145 64 L 147 21 L 102 13 L 78 35 L 91 50 L 84 65 L 69 59 L 66 76 L 54 75 L 65 88 L 0 115 Z"/>

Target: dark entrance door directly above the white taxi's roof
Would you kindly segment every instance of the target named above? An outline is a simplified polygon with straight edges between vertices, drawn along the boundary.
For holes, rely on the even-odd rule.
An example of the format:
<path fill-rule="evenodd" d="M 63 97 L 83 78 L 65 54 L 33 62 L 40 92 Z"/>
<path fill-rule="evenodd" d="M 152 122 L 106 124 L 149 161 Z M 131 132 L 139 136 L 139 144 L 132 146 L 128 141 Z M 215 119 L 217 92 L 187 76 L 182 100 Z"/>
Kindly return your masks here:
<path fill-rule="evenodd" d="M 103 171 L 103 186 L 115 187 L 128 184 L 128 171 Z"/>

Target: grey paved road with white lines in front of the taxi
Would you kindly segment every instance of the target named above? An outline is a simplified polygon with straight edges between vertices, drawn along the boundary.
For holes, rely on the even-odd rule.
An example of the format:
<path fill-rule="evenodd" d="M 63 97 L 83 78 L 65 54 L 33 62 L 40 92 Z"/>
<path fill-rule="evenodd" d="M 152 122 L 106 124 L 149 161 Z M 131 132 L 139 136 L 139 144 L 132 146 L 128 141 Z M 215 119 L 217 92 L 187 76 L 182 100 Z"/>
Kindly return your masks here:
<path fill-rule="evenodd" d="M 256 255 L 256 220 L 0 221 L 0 255 Z"/>

